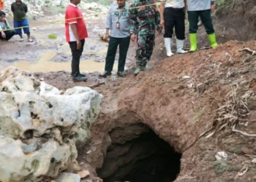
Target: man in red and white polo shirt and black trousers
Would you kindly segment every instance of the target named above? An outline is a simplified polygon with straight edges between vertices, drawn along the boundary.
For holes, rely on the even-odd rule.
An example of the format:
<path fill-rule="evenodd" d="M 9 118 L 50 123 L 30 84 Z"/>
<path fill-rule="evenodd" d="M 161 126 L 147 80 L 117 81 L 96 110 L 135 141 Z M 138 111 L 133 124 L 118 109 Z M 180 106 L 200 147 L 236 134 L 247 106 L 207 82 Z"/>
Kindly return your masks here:
<path fill-rule="evenodd" d="M 80 74 L 79 65 L 88 33 L 86 23 L 83 20 L 83 14 L 78 9 L 78 4 L 80 4 L 80 0 L 70 0 L 67 6 L 65 15 L 66 40 L 72 52 L 71 75 L 73 81 L 86 82 L 86 75 Z"/>

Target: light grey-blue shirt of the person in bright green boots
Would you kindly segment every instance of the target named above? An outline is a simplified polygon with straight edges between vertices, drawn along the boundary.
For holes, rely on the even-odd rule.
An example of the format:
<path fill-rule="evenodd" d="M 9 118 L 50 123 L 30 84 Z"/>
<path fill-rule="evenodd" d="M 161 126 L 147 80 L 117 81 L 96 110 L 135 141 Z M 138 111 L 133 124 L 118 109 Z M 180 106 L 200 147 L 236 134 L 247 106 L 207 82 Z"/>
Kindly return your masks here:
<path fill-rule="evenodd" d="M 211 2 L 215 0 L 187 0 L 188 11 L 202 11 L 211 9 Z"/>

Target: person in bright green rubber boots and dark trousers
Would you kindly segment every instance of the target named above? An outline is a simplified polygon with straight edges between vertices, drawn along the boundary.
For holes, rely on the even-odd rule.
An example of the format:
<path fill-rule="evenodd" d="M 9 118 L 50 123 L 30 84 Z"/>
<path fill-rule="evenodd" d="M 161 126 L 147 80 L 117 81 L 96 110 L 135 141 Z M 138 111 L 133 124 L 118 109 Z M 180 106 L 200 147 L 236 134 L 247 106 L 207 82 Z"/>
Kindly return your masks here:
<path fill-rule="evenodd" d="M 198 17 L 200 17 L 203 25 L 206 28 L 211 48 L 214 49 L 218 45 L 216 41 L 214 25 L 211 20 L 211 12 L 213 12 L 215 8 L 214 1 L 215 0 L 187 0 L 190 39 L 189 52 L 195 52 L 197 50 Z"/>

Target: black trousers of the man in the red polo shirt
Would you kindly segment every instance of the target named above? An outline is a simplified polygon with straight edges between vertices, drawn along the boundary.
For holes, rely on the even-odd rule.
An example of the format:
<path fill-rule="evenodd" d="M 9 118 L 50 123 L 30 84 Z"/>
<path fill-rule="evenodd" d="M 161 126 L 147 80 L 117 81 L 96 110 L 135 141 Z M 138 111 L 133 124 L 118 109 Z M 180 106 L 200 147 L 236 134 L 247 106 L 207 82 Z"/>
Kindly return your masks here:
<path fill-rule="evenodd" d="M 80 57 L 82 55 L 83 52 L 83 47 L 84 47 L 84 39 L 80 40 L 82 47 L 80 48 L 80 50 L 77 49 L 78 44 L 76 41 L 69 41 L 69 47 L 71 49 L 72 52 L 72 62 L 71 62 L 71 69 L 72 69 L 72 75 L 80 73 L 80 69 L 79 69 L 79 64 L 80 64 Z"/>

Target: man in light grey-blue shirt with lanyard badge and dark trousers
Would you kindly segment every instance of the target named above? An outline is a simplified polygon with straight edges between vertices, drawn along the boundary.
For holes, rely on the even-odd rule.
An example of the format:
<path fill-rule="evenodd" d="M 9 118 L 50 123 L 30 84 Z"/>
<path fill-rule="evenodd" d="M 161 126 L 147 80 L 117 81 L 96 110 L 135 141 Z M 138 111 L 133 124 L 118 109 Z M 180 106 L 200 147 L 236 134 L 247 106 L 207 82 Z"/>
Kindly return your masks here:
<path fill-rule="evenodd" d="M 127 51 L 129 48 L 129 6 L 125 0 L 117 0 L 117 4 L 109 9 L 106 20 L 106 35 L 105 39 L 109 39 L 108 53 L 105 63 L 105 72 L 99 77 L 106 77 L 111 75 L 113 64 L 116 58 L 116 50 L 119 45 L 119 60 L 118 60 L 118 76 L 124 76 L 125 60 L 127 58 Z M 120 11 L 122 9 L 122 11 Z M 118 11 L 119 10 L 119 11 Z M 115 12 L 118 11 L 118 12 Z M 110 31 L 110 35 L 109 35 Z"/>

